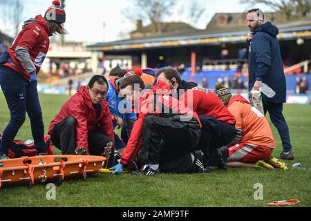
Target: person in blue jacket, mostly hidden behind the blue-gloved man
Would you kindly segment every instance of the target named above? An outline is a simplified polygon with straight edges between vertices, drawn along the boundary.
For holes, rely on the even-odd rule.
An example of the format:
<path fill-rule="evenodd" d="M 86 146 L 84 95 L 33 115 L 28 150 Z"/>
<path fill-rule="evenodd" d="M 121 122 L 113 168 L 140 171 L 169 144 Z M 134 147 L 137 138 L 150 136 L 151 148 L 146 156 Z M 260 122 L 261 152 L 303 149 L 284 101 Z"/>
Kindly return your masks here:
<path fill-rule="evenodd" d="M 124 97 L 120 97 L 120 84 L 122 81 L 126 81 L 127 77 L 135 75 L 135 73 L 126 73 L 123 77 L 116 77 L 108 81 L 109 89 L 106 94 L 106 101 L 109 103 L 109 109 L 111 111 L 113 119 L 113 128 L 122 128 L 124 133 L 120 137 L 115 134 L 115 148 L 120 155 L 123 154 L 124 148 L 127 144 L 127 140 L 133 128 L 135 121 L 137 120 L 136 113 L 131 111 L 131 104 L 126 103 Z M 138 76 L 138 75 L 137 75 Z M 135 77 L 135 84 L 138 84 L 140 88 L 144 88 L 144 81 L 138 76 Z"/>

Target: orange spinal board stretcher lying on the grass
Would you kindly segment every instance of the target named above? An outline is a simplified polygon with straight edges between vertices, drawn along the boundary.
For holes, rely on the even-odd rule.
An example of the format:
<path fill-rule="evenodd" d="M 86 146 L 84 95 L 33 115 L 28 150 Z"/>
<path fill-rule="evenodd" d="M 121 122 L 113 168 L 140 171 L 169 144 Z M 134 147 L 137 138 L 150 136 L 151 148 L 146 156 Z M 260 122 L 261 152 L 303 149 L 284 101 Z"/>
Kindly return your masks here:
<path fill-rule="evenodd" d="M 46 155 L 0 160 L 0 187 L 43 182 L 61 184 L 63 180 L 94 175 L 106 157 L 89 155 Z"/>

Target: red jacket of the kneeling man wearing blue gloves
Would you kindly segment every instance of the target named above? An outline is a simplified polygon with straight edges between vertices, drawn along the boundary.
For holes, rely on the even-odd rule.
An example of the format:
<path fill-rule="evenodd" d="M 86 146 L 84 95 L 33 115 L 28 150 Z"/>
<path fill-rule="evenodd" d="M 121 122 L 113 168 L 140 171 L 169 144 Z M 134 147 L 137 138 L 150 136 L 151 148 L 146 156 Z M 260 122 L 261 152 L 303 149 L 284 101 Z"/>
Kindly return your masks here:
<path fill-rule="evenodd" d="M 124 153 L 121 157 L 122 164 L 131 164 L 142 148 L 142 126 L 144 124 L 144 118 L 151 114 L 161 116 L 163 113 L 163 108 L 169 108 L 173 111 L 176 111 L 175 113 L 178 115 L 189 115 L 189 119 L 195 118 L 198 121 L 200 127 L 202 127 L 198 115 L 187 108 L 184 103 L 179 102 L 178 99 L 170 96 L 170 92 L 171 90 L 167 84 L 162 81 L 158 81 L 152 90 L 149 90 L 147 93 L 140 96 L 140 110 L 135 110 L 135 112 L 139 113 L 138 120 L 133 126 L 129 142 L 127 143 Z M 154 105 L 155 95 L 156 105 Z"/>

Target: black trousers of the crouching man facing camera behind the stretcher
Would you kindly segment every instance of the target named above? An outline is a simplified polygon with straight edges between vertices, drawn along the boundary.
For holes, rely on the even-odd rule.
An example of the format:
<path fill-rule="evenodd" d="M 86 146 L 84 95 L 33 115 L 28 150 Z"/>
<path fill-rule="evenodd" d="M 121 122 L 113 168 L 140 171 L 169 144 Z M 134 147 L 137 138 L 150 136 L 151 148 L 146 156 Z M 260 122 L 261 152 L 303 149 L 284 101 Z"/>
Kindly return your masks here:
<path fill-rule="evenodd" d="M 68 116 L 55 125 L 50 138 L 57 148 L 64 155 L 75 155 L 77 120 Z M 91 155 L 102 155 L 104 147 L 113 140 L 100 131 L 90 131 L 88 133 L 88 153 Z"/>

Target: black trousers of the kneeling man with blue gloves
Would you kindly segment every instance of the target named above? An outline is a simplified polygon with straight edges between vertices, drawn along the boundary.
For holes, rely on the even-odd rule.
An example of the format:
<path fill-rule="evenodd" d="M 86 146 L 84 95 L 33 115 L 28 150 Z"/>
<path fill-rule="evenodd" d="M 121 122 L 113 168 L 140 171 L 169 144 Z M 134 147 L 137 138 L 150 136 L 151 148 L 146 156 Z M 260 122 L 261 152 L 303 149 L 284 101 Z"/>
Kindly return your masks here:
<path fill-rule="evenodd" d="M 191 151 L 199 140 L 199 126 L 149 115 L 144 119 L 139 159 L 144 164 L 159 164 L 161 172 L 194 172 Z"/>

